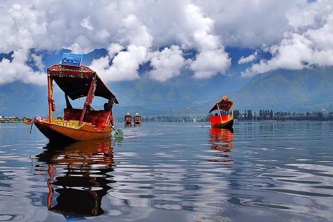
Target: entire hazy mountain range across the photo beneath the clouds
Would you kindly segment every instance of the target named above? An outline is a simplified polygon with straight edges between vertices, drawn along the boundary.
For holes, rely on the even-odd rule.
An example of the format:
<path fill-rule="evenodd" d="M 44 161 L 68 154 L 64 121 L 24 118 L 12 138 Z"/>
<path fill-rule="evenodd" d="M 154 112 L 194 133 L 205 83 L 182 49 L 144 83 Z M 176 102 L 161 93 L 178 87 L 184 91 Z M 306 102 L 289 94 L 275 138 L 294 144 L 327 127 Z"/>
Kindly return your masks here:
<path fill-rule="evenodd" d="M 62 53 L 44 55 L 45 66 L 59 62 Z M 92 59 L 106 53 L 105 49 L 99 49 L 83 55 L 83 63 L 90 64 Z M 234 57 L 236 59 L 237 56 Z M 182 70 L 179 76 L 158 82 L 151 80 L 145 67 L 141 67 L 139 79 L 107 83 L 120 102 L 114 114 L 122 116 L 125 111 L 139 111 L 142 115 L 206 115 L 222 95 L 234 100 L 235 109 L 241 111 L 318 111 L 323 107 L 332 108 L 333 67 L 277 69 L 258 74 L 249 81 L 236 74 L 241 69 L 235 64 L 235 59 L 229 76 L 217 75 L 210 79 L 195 79 L 191 71 Z M 62 115 L 64 94 L 56 86 L 54 98 L 57 105 L 54 115 Z M 98 99 L 95 101 L 97 106 L 104 103 Z M 82 104 L 83 99 L 75 102 L 76 106 Z M 0 115 L 47 115 L 46 86 L 23 83 L 0 85 Z"/>

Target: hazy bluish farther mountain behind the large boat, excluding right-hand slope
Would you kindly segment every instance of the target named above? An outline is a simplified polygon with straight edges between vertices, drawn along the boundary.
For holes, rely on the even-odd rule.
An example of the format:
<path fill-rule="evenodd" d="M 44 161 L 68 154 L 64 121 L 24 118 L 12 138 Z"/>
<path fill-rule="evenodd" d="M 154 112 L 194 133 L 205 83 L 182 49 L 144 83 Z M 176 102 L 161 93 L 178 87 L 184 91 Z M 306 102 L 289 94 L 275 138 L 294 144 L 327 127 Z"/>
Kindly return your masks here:
<path fill-rule="evenodd" d="M 45 66 L 48 67 L 59 62 L 63 52 L 68 52 L 68 50 L 43 53 Z M 96 49 L 83 55 L 83 64 L 89 65 L 94 58 L 106 54 L 105 49 Z M 192 54 L 194 55 L 194 53 Z M 238 54 L 235 55 L 238 56 Z M 10 54 L 0 54 L 0 60 L 2 57 L 11 58 Z M 235 61 L 237 61 L 236 58 Z M 115 115 L 122 116 L 124 111 L 132 113 L 140 111 L 147 115 L 173 115 L 175 113 L 181 114 L 184 111 L 195 113 L 197 110 L 193 110 L 191 107 L 202 105 L 215 97 L 221 89 L 229 92 L 240 89 L 248 82 L 247 79 L 233 75 L 237 72 L 237 68 L 231 68 L 228 76 L 217 75 L 204 80 L 195 79 L 192 77 L 192 72 L 182 70 L 181 75 L 165 82 L 159 82 L 149 78 L 147 72 L 151 68 L 148 63 L 141 65 L 139 68 L 141 78 L 136 80 L 107 83 L 120 102 L 119 107 L 116 106 L 114 109 Z M 64 94 L 56 85 L 54 85 L 53 97 L 57 106 L 54 116 L 63 115 Z M 104 102 L 95 98 L 93 105 L 98 109 L 98 105 Z M 73 105 L 77 107 L 82 106 L 82 104 L 83 98 L 73 102 Z M 0 85 L 0 115 L 47 115 L 47 87 L 19 82 Z"/>

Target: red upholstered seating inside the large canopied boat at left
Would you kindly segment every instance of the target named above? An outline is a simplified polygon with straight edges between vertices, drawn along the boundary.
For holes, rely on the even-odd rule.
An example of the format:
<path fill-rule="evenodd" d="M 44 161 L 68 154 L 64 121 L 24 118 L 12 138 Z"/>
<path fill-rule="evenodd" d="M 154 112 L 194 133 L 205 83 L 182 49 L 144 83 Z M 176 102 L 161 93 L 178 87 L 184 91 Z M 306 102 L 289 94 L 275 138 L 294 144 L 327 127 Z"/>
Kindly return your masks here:
<path fill-rule="evenodd" d="M 82 110 L 80 109 L 64 109 L 64 120 L 80 120 Z M 86 111 L 83 121 L 95 125 L 98 130 L 103 129 L 109 124 L 111 119 L 111 111 Z"/>

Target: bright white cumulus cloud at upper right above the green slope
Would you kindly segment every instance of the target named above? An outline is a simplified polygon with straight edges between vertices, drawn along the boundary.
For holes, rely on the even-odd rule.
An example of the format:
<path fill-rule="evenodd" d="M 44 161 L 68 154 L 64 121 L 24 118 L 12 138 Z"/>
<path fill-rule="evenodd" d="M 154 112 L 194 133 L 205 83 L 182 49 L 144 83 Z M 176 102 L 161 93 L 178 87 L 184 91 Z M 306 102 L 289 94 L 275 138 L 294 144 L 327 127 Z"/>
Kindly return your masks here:
<path fill-rule="evenodd" d="M 304 11 L 303 11 L 304 12 Z M 296 10 L 299 14 L 299 10 Z M 243 77 L 251 77 L 272 69 L 302 69 L 312 65 L 333 65 L 333 2 L 319 0 L 308 5 L 303 17 L 297 18 L 289 12 L 290 22 L 295 31 L 285 32 L 277 45 L 270 46 L 269 60 L 260 60 L 246 71 Z M 303 32 L 302 32 L 303 31 Z"/>

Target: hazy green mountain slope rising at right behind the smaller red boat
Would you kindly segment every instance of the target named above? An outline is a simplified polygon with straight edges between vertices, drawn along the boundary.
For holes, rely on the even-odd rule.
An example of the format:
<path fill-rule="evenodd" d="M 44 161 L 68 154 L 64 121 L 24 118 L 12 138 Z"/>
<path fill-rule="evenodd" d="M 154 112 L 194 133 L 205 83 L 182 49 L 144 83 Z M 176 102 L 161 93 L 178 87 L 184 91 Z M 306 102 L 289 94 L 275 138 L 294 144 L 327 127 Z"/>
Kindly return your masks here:
<path fill-rule="evenodd" d="M 241 90 L 229 93 L 235 109 L 318 111 L 333 106 L 333 67 L 277 69 L 254 76 Z M 215 97 L 206 105 L 220 99 Z"/>

